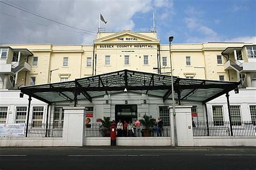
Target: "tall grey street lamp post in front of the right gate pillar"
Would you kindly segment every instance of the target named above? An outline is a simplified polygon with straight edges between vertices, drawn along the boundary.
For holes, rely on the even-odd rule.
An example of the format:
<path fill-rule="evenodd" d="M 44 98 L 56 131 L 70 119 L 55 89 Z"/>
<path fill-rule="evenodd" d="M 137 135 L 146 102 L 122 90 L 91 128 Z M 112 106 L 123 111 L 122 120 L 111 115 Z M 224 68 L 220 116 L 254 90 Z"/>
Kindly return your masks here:
<path fill-rule="evenodd" d="M 173 69 L 172 69 L 172 55 L 171 55 L 171 44 L 173 36 L 169 37 L 169 51 L 170 51 L 170 65 L 171 65 L 171 83 L 172 83 L 172 110 L 173 110 L 173 127 L 174 127 L 174 146 L 178 145 L 177 139 L 177 127 L 176 127 L 176 113 L 175 113 L 175 100 L 174 100 L 174 88 L 173 88 Z"/>

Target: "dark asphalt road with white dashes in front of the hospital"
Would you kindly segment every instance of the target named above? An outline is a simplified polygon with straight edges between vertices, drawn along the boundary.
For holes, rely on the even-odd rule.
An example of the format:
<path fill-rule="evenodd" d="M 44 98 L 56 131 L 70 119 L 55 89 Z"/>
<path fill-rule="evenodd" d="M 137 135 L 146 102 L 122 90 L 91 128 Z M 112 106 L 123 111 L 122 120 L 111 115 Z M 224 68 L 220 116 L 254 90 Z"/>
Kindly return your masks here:
<path fill-rule="evenodd" d="M 256 169 L 256 148 L 0 148 L 0 169 Z"/>

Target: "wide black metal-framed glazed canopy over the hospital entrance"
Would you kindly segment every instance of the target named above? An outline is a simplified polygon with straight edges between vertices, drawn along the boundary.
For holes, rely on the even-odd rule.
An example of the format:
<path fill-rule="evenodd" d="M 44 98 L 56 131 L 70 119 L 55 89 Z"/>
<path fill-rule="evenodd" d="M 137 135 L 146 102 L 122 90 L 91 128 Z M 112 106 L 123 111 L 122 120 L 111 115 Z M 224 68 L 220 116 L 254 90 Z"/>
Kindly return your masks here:
<path fill-rule="evenodd" d="M 231 90 L 240 82 L 187 79 L 173 76 L 174 98 L 206 103 Z M 159 96 L 165 101 L 172 93 L 171 76 L 122 70 L 99 74 L 73 81 L 21 87 L 22 93 L 51 104 L 56 101 L 78 99 L 92 101 L 93 97 L 116 92 L 139 92 Z"/>

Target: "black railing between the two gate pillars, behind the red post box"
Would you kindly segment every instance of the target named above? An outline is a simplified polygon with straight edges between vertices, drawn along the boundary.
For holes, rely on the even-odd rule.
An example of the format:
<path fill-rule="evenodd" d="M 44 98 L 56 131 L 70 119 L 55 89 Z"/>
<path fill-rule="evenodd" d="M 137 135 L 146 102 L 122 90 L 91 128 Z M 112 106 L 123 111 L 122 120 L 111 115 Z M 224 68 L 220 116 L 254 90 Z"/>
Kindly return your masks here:
<path fill-rule="evenodd" d="M 127 128 L 117 129 L 117 137 L 170 137 L 170 126 L 163 125 L 158 128 L 158 124 L 145 127 L 140 124 L 136 127 L 134 124 L 128 124 Z M 85 127 L 85 137 L 110 137 L 110 127 L 104 127 L 101 123 L 94 123 Z"/>

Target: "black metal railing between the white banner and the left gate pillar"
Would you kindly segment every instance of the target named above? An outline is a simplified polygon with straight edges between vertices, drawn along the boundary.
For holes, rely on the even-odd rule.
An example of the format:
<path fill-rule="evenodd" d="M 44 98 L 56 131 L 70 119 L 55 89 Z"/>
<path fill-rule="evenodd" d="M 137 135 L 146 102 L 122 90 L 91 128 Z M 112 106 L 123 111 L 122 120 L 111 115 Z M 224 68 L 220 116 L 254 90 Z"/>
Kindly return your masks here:
<path fill-rule="evenodd" d="M 46 124 L 29 124 L 28 126 L 28 138 L 60 138 L 63 135 L 63 124 L 51 123 Z M 1 138 L 25 138 L 26 136 L 26 125 L 24 135 L 19 136 L 1 136 Z"/>

